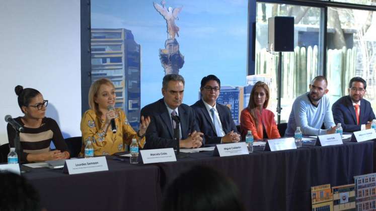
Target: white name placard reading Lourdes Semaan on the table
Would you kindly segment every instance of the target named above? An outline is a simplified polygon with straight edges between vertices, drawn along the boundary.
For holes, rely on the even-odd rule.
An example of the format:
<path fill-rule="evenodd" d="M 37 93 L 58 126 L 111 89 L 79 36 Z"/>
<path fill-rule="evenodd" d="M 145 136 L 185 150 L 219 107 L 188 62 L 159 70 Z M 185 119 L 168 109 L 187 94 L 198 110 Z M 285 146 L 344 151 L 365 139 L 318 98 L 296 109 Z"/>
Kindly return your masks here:
<path fill-rule="evenodd" d="M 105 156 L 65 160 L 63 172 L 82 174 L 97 171 L 108 171 Z"/>

